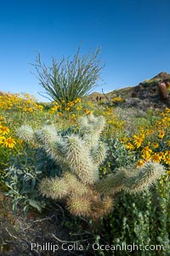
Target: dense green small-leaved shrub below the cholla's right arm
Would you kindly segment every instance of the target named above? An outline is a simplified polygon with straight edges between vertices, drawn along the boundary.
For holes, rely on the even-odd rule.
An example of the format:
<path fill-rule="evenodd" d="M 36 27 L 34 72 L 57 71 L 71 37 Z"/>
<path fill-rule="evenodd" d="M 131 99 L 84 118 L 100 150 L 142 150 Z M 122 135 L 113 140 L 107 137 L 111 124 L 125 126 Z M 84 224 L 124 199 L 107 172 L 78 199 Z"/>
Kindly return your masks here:
<path fill-rule="evenodd" d="M 167 175 L 161 178 L 152 189 L 145 189 L 142 194 L 128 195 L 121 192 L 116 197 L 115 207 L 109 217 L 103 220 L 102 234 L 99 242 L 124 245 L 141 245 L 143 251 L 132 249 L 116 250 L 112 254 L 105 251 L 104 255 L 163 255 L 170 250 L 170 185 Z M 152 250 L 145 250 L 151 245 Z M 161 250 L 156 250 L 156 245 Z M 154 249 L 155 247 L 155 249 Z M 148 247 L 147 247 L 148 249 Z M 127 254 L 126 254 L 127 253 Z"/>

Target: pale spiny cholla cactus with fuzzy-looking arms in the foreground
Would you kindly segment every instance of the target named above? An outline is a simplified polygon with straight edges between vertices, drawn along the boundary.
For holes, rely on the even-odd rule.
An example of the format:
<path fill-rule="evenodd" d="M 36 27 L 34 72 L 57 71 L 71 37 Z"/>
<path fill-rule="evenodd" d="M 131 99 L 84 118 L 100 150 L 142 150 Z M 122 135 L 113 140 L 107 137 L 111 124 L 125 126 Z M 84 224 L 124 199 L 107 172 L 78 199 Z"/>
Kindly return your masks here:
<path fill-rule="evenodd" d="M 44 125 L 39 131 L 28 126 L 20 128 L 20 137 L 37 143 L 62 168 L 61 177 L 44 178 L 40 192 L 54 200 L 65 199 L 73 215 L 99 218 L 111 212 L 113 196 L 125 190 L 138 193 L 148 188 L 164 174 L 158 163 L 146 163 L 120 168 L 116 173 L 99 179 L 99 165 L 105 160 L 106 146 L 100 140 L 105 118 L 94 115 L 79 120 L 80 134 L 61 137 L 54 125 Z"/>

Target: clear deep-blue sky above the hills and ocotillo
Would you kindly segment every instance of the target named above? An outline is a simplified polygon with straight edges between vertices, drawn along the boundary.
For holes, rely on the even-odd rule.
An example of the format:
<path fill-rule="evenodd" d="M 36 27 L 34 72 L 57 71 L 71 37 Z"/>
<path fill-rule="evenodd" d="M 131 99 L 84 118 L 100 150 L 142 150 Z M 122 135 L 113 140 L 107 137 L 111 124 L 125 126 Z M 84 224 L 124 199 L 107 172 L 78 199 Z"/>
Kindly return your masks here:
<path fill-rule="evenodd" d="M 0 0 L 0 90 L 42 90 L 29 63 L 101 47 L 105 92 L 170 73 L 169 0 Z"/>

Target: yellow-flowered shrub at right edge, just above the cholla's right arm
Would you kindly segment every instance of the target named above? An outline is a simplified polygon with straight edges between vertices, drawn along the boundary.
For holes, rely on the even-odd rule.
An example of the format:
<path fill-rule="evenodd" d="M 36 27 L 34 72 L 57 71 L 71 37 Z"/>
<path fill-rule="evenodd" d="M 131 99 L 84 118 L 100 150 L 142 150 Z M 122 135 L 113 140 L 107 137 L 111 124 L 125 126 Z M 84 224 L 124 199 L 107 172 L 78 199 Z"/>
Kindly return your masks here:
<path fill-rule="evenodd" d="M 151 126 L 139 127 L 139 134 L 131 138 L 122 137 L 122 143 L 129 150 L 136 152 L 138 166 L 145 161 L 161 162 L 170 165 L 170 108 L 161 113 L 161 118 Z"/>

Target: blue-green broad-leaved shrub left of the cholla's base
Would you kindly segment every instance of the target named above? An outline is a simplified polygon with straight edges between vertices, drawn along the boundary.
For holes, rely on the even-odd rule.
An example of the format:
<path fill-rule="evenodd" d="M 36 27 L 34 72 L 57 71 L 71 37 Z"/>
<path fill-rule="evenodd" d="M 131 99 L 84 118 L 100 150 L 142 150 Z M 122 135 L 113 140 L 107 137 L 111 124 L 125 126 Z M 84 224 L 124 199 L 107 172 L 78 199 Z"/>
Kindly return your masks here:
<path fill-rule="evenodd" d="M 45 154 L 42 148 L 27 146 L 23 153 L 12 157 L 8 161 L 8 167 L 3 170 L 2 179 L 6 190 L 5 195 L 12 199 L 13 211 L 17 212 L 20 204 L 25 214 L 29 207 L 42 212 L 42 207 L 46 206 L 47 200 L 39 193 L 39 183 L 42 178 L 54 177 L 59 173 L 59 166 Z"/>

